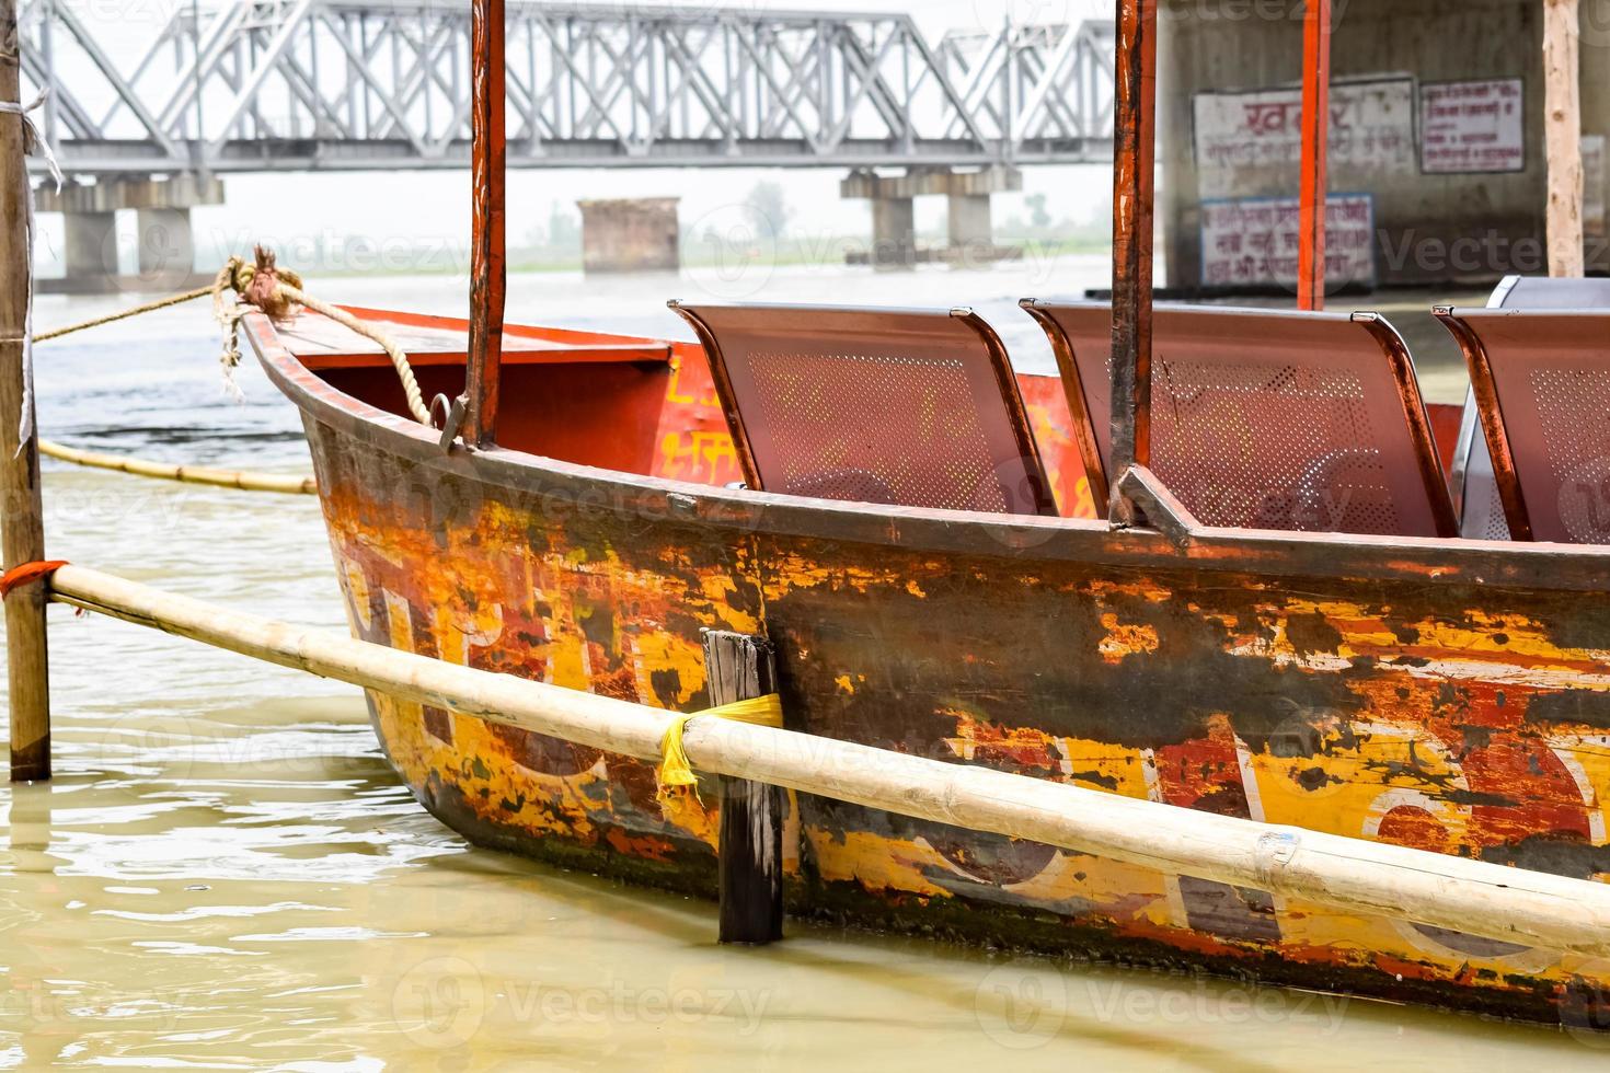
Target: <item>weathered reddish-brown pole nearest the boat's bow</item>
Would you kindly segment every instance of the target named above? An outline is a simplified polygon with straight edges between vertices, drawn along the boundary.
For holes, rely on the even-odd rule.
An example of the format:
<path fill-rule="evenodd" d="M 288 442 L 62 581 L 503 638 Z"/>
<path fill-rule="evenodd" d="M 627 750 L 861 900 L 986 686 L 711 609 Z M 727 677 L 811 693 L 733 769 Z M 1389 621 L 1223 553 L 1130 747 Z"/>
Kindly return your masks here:
<path fill-rule="evenodd" d="M 473 0 L 470 88 L 470 352 L 464 439 L 485 447 L 497 434 L 504 265 L 504 0 Z"/>

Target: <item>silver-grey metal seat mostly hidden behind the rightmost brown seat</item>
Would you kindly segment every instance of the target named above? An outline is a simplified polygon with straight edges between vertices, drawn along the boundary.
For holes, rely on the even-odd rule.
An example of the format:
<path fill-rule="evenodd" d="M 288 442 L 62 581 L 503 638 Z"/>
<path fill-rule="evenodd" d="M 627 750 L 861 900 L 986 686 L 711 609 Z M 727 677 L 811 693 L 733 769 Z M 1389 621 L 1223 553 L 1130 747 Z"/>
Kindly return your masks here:
<path fill-rule="evenodd" d="M 1488 309 L 1610 309 L 1610 278 L 1510 275 L 1492 291 Z M 1465 360 L 1470 360 L 1468 352 Z M 1472 388 L 1465 393 L 1451 473 L 1459 534 L 1478 541 L 1509 541 L 1504 497 L 1492 475 L 1492 452 L 1481 428 L 1476 393 Z"/>

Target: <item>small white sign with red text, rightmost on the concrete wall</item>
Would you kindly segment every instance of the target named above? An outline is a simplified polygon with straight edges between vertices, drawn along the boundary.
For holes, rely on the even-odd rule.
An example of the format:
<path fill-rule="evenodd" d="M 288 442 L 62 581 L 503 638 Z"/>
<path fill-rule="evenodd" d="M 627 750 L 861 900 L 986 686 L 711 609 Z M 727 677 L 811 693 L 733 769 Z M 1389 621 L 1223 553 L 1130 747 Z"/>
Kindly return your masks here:
<path fill-rule="evenodd" d="M 1520 79 L 1420 87 L 1420 169 L 1428 175 L 1526 171 Z"/>

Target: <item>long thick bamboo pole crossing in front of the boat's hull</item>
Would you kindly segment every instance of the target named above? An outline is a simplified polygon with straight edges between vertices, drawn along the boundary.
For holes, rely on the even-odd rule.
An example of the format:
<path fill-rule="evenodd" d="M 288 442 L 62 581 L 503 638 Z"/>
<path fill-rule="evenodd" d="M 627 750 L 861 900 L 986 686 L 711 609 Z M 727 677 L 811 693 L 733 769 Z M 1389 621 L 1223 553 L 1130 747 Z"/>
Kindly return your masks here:
<path fill-rule="evenodd" d="M 63 566 L 52 598 L 401 700 L 641 759 L 663 711 L 428 660 Z M 1610 885 L 1121 798 L 791 730 L 694 719 L 700 771 L 1249 886 L 1335 912 L 1610 956 Z"/>

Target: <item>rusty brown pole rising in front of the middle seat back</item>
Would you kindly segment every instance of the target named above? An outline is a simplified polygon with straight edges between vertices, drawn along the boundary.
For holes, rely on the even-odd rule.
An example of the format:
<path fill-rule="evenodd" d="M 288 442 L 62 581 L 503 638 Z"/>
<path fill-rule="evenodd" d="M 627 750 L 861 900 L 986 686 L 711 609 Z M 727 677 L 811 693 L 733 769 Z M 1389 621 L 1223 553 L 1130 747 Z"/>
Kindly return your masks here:
<path fill-rule="evenodd" d="M 1113 98 L 1114 524 L 1140 521 L 1119 491 L 1151 462 L 1151 243 L 1158 111 L 1158 0 L 1117 0 Z"/>

